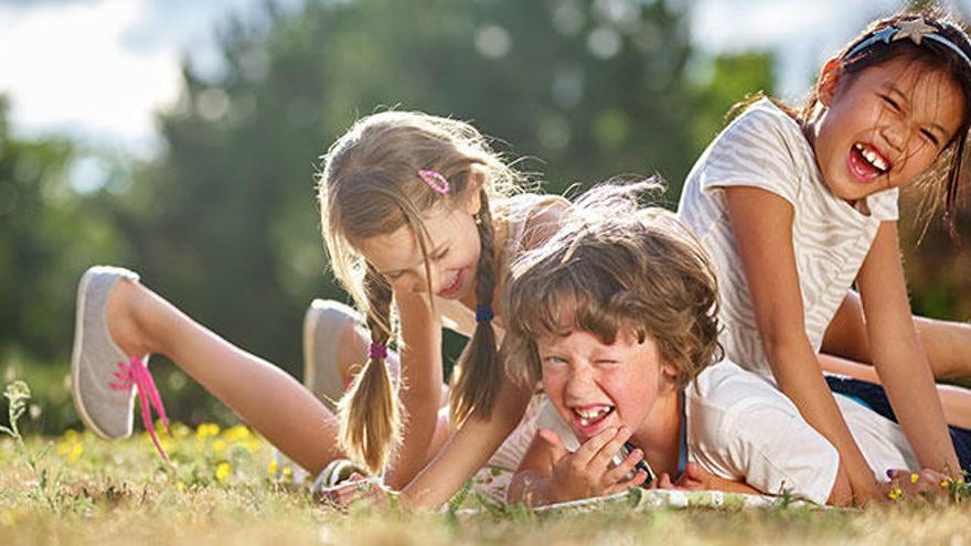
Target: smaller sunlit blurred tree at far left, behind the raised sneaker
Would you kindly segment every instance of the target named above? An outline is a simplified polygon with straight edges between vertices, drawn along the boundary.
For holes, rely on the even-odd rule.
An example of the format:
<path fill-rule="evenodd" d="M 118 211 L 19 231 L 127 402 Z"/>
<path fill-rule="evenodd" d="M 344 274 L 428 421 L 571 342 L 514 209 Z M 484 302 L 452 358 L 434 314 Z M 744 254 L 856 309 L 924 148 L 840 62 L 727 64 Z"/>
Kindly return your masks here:
<path fill-rule="evenodd" d="M 63 139 L 13 137 L 7 108 L 0 96 L 0 357 L 51 361 L 70 347 L 78 274 L 127 250 L 106 214 L 106 164 Z"/>

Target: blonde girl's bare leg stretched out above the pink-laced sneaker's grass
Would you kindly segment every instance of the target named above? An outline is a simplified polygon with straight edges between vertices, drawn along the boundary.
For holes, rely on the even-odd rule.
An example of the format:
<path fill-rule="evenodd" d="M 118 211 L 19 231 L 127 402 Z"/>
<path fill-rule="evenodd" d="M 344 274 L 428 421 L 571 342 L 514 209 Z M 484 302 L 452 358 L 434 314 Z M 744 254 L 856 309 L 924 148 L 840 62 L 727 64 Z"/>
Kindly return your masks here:
<path fill-rule="evenodd" d="M 128 355 L 163 354 L 290 459 L 320 472 L 342 457 L 333 415 L 296 379 L 196 323 L 138 282 L 121 280 L 105 311 Z"/>

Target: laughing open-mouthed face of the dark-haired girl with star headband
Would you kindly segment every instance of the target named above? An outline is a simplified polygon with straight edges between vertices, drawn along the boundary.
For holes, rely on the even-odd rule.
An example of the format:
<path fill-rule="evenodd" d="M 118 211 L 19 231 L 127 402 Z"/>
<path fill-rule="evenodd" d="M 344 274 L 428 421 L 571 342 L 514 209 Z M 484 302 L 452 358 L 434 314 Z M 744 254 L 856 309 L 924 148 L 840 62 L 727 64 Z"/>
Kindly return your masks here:
<path fill-rule="evenodd" d="M 824 108 L 812 124 L 817 162 L 830 191 L 851 203 L 915 181 L 965 115 L 950 75 L 905 58 L 853 75 L 830 62 L 819 95 Z"/>

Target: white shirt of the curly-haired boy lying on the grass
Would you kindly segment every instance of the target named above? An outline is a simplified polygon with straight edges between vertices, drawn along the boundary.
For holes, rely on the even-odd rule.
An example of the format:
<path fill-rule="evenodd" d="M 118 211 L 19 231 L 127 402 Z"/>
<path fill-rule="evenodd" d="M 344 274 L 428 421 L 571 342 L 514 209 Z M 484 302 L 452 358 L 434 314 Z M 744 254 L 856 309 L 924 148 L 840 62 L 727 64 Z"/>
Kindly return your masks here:
<path fill-rule="evenodd" d="M 897 424 L 843 396 L 836 396 L 836 403 L 878 481 L 887 480 L 889 469 L 916 468 Z M 689 461 L 767 494 L 789 491 L 825 504 L 836 479 L 839 453 L 766 378 L 723 361 L 685 389 L 685 405 Z M 579 448 L 549 400 L 540 411 L 538 428 L 555 431 L 570 451 Z"/>

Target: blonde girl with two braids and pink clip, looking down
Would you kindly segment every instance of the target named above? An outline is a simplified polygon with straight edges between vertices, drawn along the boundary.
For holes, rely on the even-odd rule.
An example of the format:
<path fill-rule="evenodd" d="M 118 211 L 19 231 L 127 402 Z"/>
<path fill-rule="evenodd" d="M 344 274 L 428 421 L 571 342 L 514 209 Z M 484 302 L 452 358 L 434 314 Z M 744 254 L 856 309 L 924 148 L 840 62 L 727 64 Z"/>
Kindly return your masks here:
<path fill-rule="evenodd" d="M 395 111 L 360 120 L 327 153 L 319 193 L 331 264 L 364 311 L 367 334 L 360 335 L 352 312 L 327 302 L 311 307 L 305 329 L 311 372 L 337 370 L 351 379 L 340 420 L 321 400 L 326 392 L 314 396 L 194 322 L 136 274 L 110 267 L 89 269 L 78 286 L 78 415 L 104 438 L 127 437 L 137 392 L 153 435 L 149 407 L 166 417 L 146 364 L 160 353 L 313 474 L 349 456 L 384 472 L 406 504 L 429 507 L 447 501 L 508 437 L 504 465 L 514 469 L 532 436 L 524 415 L 533 393 L 501 372 L 494 302 L 506 265 L 546 236 L 565 204 L 512 196 L 520 180 L 467 124 Z M 447 420 L 438 418 L 445 326 L 471 333 Z M 321 354 L 334 357 L 321 364 Z M 346 495 L 338 490 L 334 497 Z"/>

